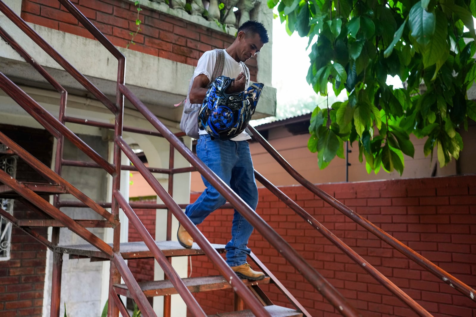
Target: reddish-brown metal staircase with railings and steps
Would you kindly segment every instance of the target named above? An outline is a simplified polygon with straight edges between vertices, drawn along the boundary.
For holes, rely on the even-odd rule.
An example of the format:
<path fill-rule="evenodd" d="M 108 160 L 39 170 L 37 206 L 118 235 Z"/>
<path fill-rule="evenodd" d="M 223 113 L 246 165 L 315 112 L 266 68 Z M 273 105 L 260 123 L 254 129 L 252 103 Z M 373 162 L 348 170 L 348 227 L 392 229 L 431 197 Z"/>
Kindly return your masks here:
<path fill-rule="evenodd" d="M 228 267 L 226 262 L 220 256 L 224 252 L 223 245 L 210 244 L 203 234 L 188 220 L 182 211 L 183 205 L 178 205 L 172 199 L 173 176 L 175 173 L 188 173 L 197 170 L 227 199 L 227 201 L 237 209 L 254 227 L 262 234 L 278 252 L 293 265 L 307 281 L 316 288 L 327 300 L 336 307 L 337 311 L 343 316 L 360 316 L 358 311 L 352 307 L 345 298 L 324 279 L 316 269 L 310 266 L 296 250 L 280 237 L 261 217 L 251 210 L 234 192 L 228 188 L 207 166 L 180 141 L 179 137 L 183 134 L 173 134 L 153 113 L 124 85 L 125 57 L 115 48 L 109 40 L 104 37 L 98 29 L 92 25 L 89 20 L 81 14 L 79 10 L 69 0 L 59 0 L 80 23 L 88 29 L 91 34 L 104 45 L 109 52 L 118 59 L 118 80 L 116 101 L 111 102 L 103 93 L 101 93 L 86 77 L 80 74 L 72 65 L 70 65 L 58 52 L 46 43 L 33 29 L 31 29 L 20 17 L 18 17 L 3 1 L 0 0 L 0 11 L 3 12 L 11 21 L 15 23 L 25 34 L 27 34 L 40 48 L 47 52 L 60 66 L 71 74 L 81 85 L 83 85 L 93 96 L 106 106 L 115 116 L 115 124 L 105 124 L 94 120 L 84 120 L 73 118 L 66 115 L 67 92 L 60 84 L 51 77 L 48 72 L 41 67 L 21 46 L 10 37 L 8 32 L 0 27 L 0 36 L 7 41 L 27 62 L 58 91 L 60 92 L 60 113 L 56 118 L 50 115 L 42 106 L 30 98 L 24 91 L 13 83 L 8 77 L 0 72 L 0 89 L 5 91 L 13 100 L 15 100 L 24 110 L 34 117 L 50 134 L 57 140 L 57 149 L 54 154 L 55 169 L 51 170 L 48 166 L 41 163 L 30 153 L 13 142 L 7 135 L 0 131 L 0 144 L 6 148 L 0 155 L 17 155 L 24 162 L 28 163 L 33 169 L 40 173 L 48 183 L 23 183 L 11 177 L 8 173 L 0 170 L 0 198 L 18 198 L 21 199 L 28 208 L 43 215 L 42 219 L 16 219 L 13 215 L 0 209 L 0 214 L 12 222 L 21 230 L 30 234 L 33 238 L 53 251 L 53 274 L 52 274 L 52 295 L 51 295 L 51 316 L 58 317 L 60 312 L 60 288 L 61 288 L 61 265 L 62 255 L 69 254 L 70 258 L 89 258 L 91 260 L 109 260 L 110 278 L 109 278 L 109 307 L 108 316 L 129 316 L 124 303 L 119 295 L 133 298 L 143 316 L 156 316 L 149 304 L 149 297 L 164 296 L 164 316 L 170 316 L 170 295 L 180 294 L 181 298 L 187 304 L 188 310 L 194 316 L 206 316 L 203 309 L 199 306 L 192 293 L 216 290 L 232 289 L 235 296 L 235 311 L 220 314 L 219 316 L 228 317 L 287 317 L 287 316 L 307 316 L 310 317 L 306 308 L 292 296 L 292 294 L 276 279 L 273 273 L 267 269 L 264 264 L 254 254 L 251 259 L 256 266 L 263 270 L 267 277 L 264 280 L 251 282 L 240 280 L 234 272 Z M 144 115 L 145 118 L 157 129 L 157 131 L 148 131 L 144 129 L 131 128 L 123 126 L 124 97 Z M 110 163 L 91 147 L 85 144 L 77 135 L 72 133 L 65 125 L 66 122 L 82 125 L 91 125 L 107 128 L 114 131 L 114 159 Z M 253 137 L 262 144 L 265 149 L 290 173 L 299 183 L 301 183 L 310 192 L 314 193 L 332 207 L 347 215 L 350 219 L 363 226 L 368 231 L 375 234 L 381 240 L 387 242 L 390 246 L 406 255 L 409 259 L 415 261 L 426 270 L 442 279 L 447 284 L 456 288 L 469 298 L 474 300 L 475 290 L 451 276 L 447 272 L 438 268 L 429 260 L 423 258 L 415 251 L 408 248 L 392 236 L 382 231 L 365 218 L 359 216 L 354 211 L 338 202 L 327 193 L 323 192 L 312 183 L 298 174 L 270 144 L 252 127 L 250 127 Z M 156 135 L 165 138 L 170 143 L 170 159 L 168 169 L 158 169 L 146 167 L 133 152 L 129 145 L 122 138 L 123 131 L 135 133 Z M 78 147 L 91 158 L 91 162 L 69 161 L 63 159 L 63 144 L 67 138 L 72 144 Z M 192 165 L 190 168 L 174 168 L 174 149 L 183 155 Z M 133 166 L 121 164 L 121 154 L 124 153 L 133 163 Z M 83 192 L 67 182 L 61 177 L 62 166 L 82 166 L 89 168 L 103 169 L 112 176 L 112 200 L 110 203 L 95 202 Z M 168 210 L 167 221 L 167 240 L 155 241 L 150 236 L 144 225 L 141 223 L 134 208 L 134 203 L 126 201 L 119 192 L 120 172 L 121 170 L 139 171 L 147 180 L 149 185 L 155 190 L 163 204 L 151 204 L 149 208 L 163 208 Z M 169 175 L 169 188 L 163 188 L 157 179 L 152 175 L 154 173 L 165 173 Z M 419 316 L 431 316 L 416 301 L 410 298 L 400 288 L 393 284 L 377 269 L 375 269 L 365 259 L 360 257 L 355 251 L 349 248 L 344 242 L 327 230 L 321 223 L 309 215 L 303 208 L 293 202 L 277 187 L 269 183 L 264 176 L 255 171 L 257 180 L 264 184 L 271 192 L 285 202 L 289 208 L 295 211 L 310 226 L 321 232 L 328 240 L 335 244 L 340 250 L 353 259 L 358 265 L 366 270 L 378 282 L 386 287 L 408 307 L 414 310 Z M 61 194 L 69 193 L 78 199 L 78 202 L 69 202 L 61 200 Z M 53 204 L 44 200 L 41 195 L 53 195 Z M 103 220 L 78 220 L 72 219 L 61 211 L 62 207 L 84 207 L 98 213 Z M 110 208 L 110 212 L 106 210 Z M 142 242 L 119 243 L 119 208 L 122 209 L 129 218 L 130 225 L 139 232 Z M 185 227 L 196 242 L 192 249 L 184 249 L 177 242 L 171 241 L 171 220 L 172 215 Z M 37 231 L 35 227 L 53 227 L 51 240 L 47 240 Z M 84 245 L 59 246 L 60 227 L 67 227 L 88 242 Z M 110 227 L 114 230 L 114 239 L 112 244 L 108 244 L 91 233 L 87 228 Z M 193 256 L 207 255 L 215 264 L 221 276 L 201 277 L 181 279 L 174 268 L 171 266 L 171 257 L 174 256 Z M 130 272 L 125 260 L 139 258 L 154 258 L 164 270 L 166 279 L 163 281 L 148 281 L 138 283 Z M 121 278 L 125 284 L 121 284 Z M 273 305 L 266 294 L 259 287 L 262 284 L 275 284 L 283 294 L 289 299 L 294 308 L 280 307 Z M 230 295 L 232 296 L 232 295 Z M 243 310 L 244 304 L 249 307 Z M 218 316 L 218 315 L 217 315 Z"/>

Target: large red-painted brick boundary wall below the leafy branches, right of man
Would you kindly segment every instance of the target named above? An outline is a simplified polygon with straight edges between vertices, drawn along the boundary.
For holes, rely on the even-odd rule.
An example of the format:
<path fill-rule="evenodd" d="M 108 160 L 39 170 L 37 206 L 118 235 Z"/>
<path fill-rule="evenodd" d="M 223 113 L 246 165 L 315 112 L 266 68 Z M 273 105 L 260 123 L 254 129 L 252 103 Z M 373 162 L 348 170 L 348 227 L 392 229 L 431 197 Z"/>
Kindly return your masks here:
<path fill-rule="evenodd" d="M 476 287 L 476 175 L 320 185 L 354 211 Z M 300 186 L 282 187 L 290 198 L 437 317 L 475 317 L 476 304 L 410 262 Z M 258 214 L 334 285 L 364 316 L 417 316 L 268 190 L 259 190 Z M 198 195 L 192 195 L 194 201 Z M 229 240 L 232 210 L 212 213 L 199 229 L 212 243 Z M 340 316 L 258 232 L 249 247 L 313 317 Z M 204 256 L 192 257 L 192 276 L 217 275 Z M 289 306 L 273 286 L 278 305 Z M 208 314 L 231 311 L 230 291 L 196 296 Z"/>

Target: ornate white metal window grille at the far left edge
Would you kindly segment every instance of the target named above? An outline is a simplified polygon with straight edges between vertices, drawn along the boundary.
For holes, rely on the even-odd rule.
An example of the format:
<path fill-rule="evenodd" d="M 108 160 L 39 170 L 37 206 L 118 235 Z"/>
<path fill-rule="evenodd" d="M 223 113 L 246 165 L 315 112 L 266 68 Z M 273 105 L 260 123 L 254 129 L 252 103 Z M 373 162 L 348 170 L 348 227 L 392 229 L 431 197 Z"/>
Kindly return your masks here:
<path fill-rule="evenodd" d="M 0 144 L 0 153 L 6 149 L 5 145 Z M 0 156 L 0 170 L 7 172 L 10 176 L 15 178 L 17 172 L 17 156 Z M 13 214 L 13 199 L 0 198 L 0 208 Z M 11 226 L 11 222 L 0 215 L 0 261 L 10 259 Z"/>

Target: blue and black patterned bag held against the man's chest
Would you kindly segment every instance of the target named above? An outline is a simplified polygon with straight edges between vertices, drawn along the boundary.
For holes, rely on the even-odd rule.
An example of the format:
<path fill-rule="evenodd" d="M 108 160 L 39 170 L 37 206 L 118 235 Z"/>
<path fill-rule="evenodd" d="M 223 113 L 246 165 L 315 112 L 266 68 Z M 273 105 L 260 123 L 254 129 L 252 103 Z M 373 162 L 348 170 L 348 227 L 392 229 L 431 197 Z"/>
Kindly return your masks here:
<path fill-rule="evenodd" d="M 264 86 L 255 83 L 245 91 L 227 94 L 232 82 L 229 77 L 217 77 L 208 88 L 198 113 L 200 130 L 220 140 L 232 139 L 245 130 Z"/>

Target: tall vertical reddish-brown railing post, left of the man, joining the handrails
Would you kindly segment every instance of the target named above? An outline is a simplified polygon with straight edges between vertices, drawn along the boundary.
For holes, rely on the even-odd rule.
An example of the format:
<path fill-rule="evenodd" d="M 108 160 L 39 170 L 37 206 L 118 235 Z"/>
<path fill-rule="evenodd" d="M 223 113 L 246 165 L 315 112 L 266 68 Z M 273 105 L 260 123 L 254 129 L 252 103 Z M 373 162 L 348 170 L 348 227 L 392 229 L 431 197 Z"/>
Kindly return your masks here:
<path fill-rule="evenodd" d="M 117 77 L 117 87 L 116 87 L 116 107 L 117 111 L 115 113 L 115 125 L 114 125 L 114 153 L 113 153 L 113 164 L 116 169 L 115 174 L 112 175 L 112 193 L 115 191 L 120 191 L 120 174 L 121 174 L 121 156 L 122 152 L 117 144 L 116 140 L 122 137 L 123 121 L 124 121 L 124 95 L 120 92 L 119 87 L 125 83 L 125 67 L 126 67 L 126 58 L 118 58 L 118 77 Z M 111 197 L 111 213 L 114 217 L 114 221 L 117 226 L 114 228 L 113 238 L 112 238 L 112 251 L 113 253 L 119 253 L 119 244 L 120 244 L 120 223 L 119 223 L 119 204 L 114 198 L 114 194 Z M 119 308 L 114 304 L 114 299 L 111 298 L 112 286 L 114 284 L 120 283 L 120 273 L 117 270 L 113 261 L 110 261 L 110 272 L 109 272 L 109 307 L 108 307 L 108 316 L 118 317 Z"/>

